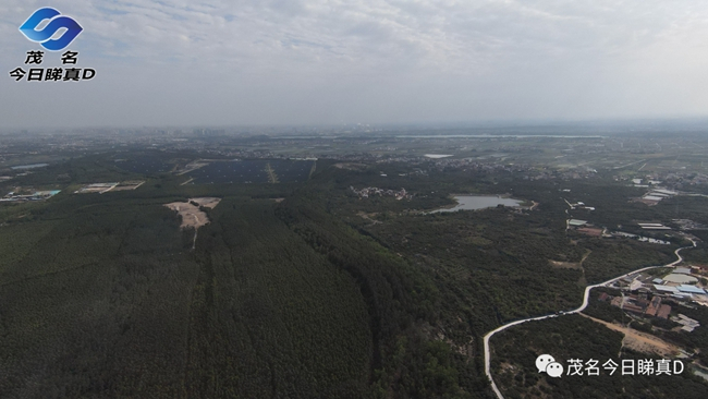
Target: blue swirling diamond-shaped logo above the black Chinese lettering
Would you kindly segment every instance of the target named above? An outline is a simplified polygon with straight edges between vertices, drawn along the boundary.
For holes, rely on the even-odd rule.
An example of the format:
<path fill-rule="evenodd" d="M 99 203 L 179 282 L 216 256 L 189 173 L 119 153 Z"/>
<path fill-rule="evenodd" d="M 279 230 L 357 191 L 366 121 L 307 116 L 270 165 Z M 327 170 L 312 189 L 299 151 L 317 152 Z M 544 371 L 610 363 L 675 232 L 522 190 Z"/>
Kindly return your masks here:
<path fill-rule="evenodd" d="M 39 24 L 45 20 L 50 21 L 41 31 L 36 31 L 37 26 L 39 26 Z M 51 37 L 61 28 L 65 28 L 66 31 L 59 38 L 52 39 Z M 22 26 L 20 26 L 20 32 L 22 32 L 25 37 L 32 41 L 41 44 L 44 48 L 50 51 L 59 51 L 65 48 L 82 31 L 84 31 L 84 28 L 81 27 L 76 21 L 69 16 L 61 15 L 59 11 L 49 7 L 35 11 L 35 13 L 32 14 Z"/>

